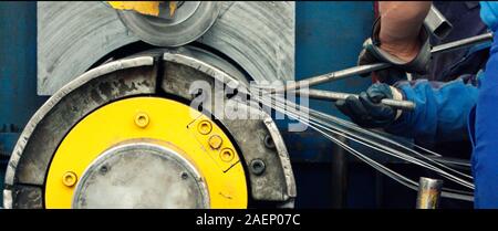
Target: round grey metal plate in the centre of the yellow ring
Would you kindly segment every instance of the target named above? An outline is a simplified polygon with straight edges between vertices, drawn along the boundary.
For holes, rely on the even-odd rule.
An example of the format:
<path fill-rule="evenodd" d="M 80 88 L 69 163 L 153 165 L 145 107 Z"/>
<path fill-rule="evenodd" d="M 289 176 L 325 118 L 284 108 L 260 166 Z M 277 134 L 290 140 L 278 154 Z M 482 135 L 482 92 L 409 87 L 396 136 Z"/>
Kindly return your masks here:
<path fill-rule="evenodd" d="M 160 145 L 133 143 L 100 156 L 79 181 L 73 208 L 208 208 L 196 169 Z"/>

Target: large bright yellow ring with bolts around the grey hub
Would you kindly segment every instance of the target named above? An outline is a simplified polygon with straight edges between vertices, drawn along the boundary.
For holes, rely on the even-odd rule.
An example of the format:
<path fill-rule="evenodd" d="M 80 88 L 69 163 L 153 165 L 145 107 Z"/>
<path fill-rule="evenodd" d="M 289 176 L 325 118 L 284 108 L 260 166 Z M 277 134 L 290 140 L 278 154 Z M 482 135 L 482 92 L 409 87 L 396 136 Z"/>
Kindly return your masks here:
<path fill-rule="evenodd" d="M 135 124 L 139 113 L 149 118 L 145 128 Z M 45 207 L 71 208 L 75 187 L 61 181 L 66 171 L 82 176 L 106 149 L 146 138 L 172 144 L 197 168 L 207 185 L 211 208 L 247 208 L 246 177 L 238 154 L 229 162 L 221 160 L 219 150 L 209 148 L 210 136 L 199 134 L 199 123 L 209 124 L 209 133 L 221 137 L 221 150 L 236 150 L 216 123 L 175 101 L 133 97 L 101 107 L 76 124 L 55 151 L 45 182 Z"/>

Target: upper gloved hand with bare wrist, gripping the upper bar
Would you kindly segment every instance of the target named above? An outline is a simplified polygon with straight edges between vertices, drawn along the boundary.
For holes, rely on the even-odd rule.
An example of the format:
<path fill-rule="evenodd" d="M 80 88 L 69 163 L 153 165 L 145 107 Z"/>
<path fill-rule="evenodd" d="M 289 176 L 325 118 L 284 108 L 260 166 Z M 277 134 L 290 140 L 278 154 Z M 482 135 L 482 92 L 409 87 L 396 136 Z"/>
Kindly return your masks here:
<path fill-rule="evenodd" d="M 357 64 L 391 63 L 393 67 L 377 71 L 380 82 L 395 82 L 405 73 L 426 74 L 430 61 L 429 32 L 422 27 L 418 40 L 397 42 L 382 41 L 378 36 L 381 20 L 373 25 L 372 36 L 363 43 Z M 364 74 L 362 76 L 369 76 Z"/>

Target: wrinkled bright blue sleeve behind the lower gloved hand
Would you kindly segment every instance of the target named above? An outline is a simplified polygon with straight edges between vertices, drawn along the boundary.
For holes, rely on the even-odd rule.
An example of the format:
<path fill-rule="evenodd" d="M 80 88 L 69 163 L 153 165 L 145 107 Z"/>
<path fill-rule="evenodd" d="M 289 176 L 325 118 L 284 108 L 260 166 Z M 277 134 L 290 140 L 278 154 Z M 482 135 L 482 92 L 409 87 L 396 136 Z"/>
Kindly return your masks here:
<path fill-rule="evenodd" d="M 426 144 L 468 138 L 467 119 L 477 102 L 476 86 L 461 78 L 448 83 L 400 82 L 396 86 L 416 106 L 412 112 L 403 112 L 386 132 Z"/>

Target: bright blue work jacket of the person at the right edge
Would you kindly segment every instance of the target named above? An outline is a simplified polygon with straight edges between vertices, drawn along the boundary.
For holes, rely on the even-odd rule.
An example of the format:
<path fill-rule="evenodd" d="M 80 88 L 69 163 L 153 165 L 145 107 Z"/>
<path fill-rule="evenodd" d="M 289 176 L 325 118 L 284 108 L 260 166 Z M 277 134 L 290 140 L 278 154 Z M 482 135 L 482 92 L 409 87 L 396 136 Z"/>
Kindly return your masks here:
<path fill-rule="evenodd" d="M 480 2 L 480 8 L 481 20 L 495 34 L 484 73 L 447 83 L 396 83 L 416 109 L 386 127 L 424 143 L 470 139 L 477 209 L 498 208 L 498 2 Z"/>

